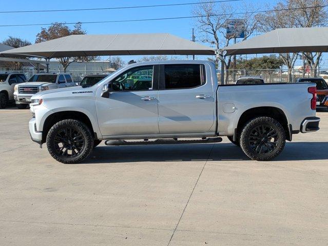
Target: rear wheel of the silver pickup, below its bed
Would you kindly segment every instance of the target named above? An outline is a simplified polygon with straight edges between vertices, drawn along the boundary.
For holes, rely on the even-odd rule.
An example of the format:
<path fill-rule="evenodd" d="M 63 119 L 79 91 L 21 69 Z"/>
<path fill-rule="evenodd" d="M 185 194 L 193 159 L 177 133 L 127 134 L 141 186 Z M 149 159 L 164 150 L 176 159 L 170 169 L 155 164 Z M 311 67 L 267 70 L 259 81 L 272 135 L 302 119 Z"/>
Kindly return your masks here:
<path fill-rule="evenodd" d="M 281 153 L 285 142 L 285 130 L 270 117 L 250 120 L 240 135 L 240 146 L 252 160 L 272 160 Z"/>

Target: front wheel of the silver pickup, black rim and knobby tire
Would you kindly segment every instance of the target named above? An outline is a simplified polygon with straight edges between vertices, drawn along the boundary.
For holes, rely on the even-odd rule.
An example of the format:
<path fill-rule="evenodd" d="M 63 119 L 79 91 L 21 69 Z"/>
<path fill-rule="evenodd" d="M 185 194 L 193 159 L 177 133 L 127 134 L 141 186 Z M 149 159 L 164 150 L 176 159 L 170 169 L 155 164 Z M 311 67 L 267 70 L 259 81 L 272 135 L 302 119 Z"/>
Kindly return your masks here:
<path fill-rule="evenodd" d="M 93 149 L 93 135 L 83 122 L 64 119 L 53 125 L 47 135 L 50 155 L 62 163 L 79 163 Z"/>

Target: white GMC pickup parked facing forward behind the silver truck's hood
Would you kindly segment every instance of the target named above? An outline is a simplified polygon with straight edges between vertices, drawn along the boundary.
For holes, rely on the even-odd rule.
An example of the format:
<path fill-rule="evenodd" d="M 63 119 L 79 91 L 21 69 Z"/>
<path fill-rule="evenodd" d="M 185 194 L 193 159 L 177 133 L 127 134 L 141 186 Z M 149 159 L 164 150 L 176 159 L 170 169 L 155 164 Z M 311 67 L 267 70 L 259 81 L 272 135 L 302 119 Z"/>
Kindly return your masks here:
<path fill-rule="evenodd" d="M 67 73 L 38 73 L 25 83 L 15 85 L 14 99 L 18 109 L 25 109 L 31 103 L 31 96 L 40 91 L 75 86 Z"/>

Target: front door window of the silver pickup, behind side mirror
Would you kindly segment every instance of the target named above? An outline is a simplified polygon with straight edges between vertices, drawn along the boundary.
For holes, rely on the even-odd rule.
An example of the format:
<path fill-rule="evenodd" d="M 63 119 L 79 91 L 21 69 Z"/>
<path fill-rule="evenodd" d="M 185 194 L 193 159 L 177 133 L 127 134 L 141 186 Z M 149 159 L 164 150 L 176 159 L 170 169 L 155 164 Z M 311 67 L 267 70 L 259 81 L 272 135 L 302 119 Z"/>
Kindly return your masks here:
<path fill-rule="evenodd" d="M 153 66 L 131 68 L 115 78 L 113 91 L 140 91 L 152 89 Z"/>

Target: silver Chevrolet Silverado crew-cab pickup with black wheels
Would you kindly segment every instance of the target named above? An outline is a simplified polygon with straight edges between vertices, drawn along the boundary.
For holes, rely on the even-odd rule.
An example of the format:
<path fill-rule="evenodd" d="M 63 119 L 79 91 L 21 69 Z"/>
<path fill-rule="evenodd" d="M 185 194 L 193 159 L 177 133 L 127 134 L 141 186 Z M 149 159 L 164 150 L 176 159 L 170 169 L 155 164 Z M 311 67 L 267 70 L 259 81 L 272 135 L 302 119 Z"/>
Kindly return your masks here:
<path fill-rule="evenodd" d="M 151 75 L 125 87 L 136 75 Z M 31 97 L 29 131 L 50 155 L 77 163 L 105 144 L 220 142 L 253 160 L 271 160 L 293 134 L 319 130 L 316 85 L 218 85 L 210 61 L 130 64 L 91 87 L 47 90 Z"/>

